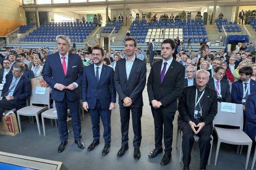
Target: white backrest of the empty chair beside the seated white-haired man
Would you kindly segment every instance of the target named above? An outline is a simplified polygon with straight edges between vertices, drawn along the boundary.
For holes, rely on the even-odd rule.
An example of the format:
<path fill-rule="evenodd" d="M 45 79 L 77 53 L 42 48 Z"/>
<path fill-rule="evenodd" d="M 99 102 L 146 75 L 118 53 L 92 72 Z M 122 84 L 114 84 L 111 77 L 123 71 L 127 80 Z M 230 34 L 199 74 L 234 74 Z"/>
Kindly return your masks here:
<path fill-rule="evenodd" d="M 215 124 L 223 124 L 229 126 L 238 126 L 242 130 L 244 123 L 242 104 L 236 104 L 236 113 L 221 111 L 221 103 L 218 102 L 218 113 L 213 119 L 213 127 Z"/>

